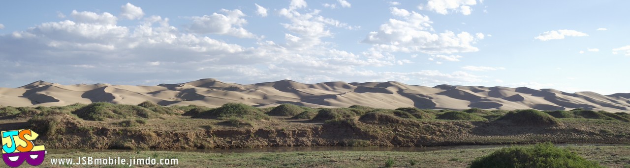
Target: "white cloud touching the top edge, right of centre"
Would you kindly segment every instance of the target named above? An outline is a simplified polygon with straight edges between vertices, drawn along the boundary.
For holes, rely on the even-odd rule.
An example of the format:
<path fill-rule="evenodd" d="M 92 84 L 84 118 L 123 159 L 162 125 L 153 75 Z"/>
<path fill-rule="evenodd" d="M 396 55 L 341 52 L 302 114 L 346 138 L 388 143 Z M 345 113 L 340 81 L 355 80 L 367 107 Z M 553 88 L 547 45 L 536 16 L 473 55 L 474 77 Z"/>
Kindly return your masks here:
<path fill-rule="evenodd" d="M 427 4 L 419 6 L 420 9 L 427 9 L 439 14 L 449 14 L 449 12 L 471 14 L 471 6 L 477 4 L 475 0 L 428 0 Z"/>

